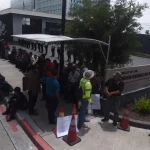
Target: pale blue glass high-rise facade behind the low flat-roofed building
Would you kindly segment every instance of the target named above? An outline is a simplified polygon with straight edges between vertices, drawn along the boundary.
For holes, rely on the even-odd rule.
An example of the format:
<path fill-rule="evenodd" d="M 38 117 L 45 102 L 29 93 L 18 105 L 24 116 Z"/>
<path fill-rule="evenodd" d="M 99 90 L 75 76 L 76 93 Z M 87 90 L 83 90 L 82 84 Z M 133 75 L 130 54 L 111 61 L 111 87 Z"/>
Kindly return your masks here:
<path fill-rule="evenodd" d="M 38 12 L 45 12 L 50 14 L 61 15 L 63 0 L 11 0 L 11 8 L 36 10 Z M 79 0 L 66 0 L 66 13 L 69 12 Z M 91 0 L 98 1 L 98 0 Z M 110 0 L 105 0 L 107 4 Z"/>

